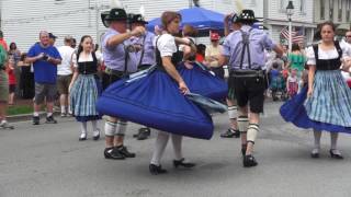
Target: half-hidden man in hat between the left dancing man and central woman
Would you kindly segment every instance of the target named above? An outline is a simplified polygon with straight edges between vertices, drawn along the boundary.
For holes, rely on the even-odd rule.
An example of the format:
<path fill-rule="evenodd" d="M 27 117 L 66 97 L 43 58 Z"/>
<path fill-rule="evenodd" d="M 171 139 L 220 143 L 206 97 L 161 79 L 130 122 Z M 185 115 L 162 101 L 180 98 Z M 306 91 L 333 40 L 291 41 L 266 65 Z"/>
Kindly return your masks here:
<path fill-rule="evenodd" d="M 131 14 L 129 15 L 131 28 L 132 31 L 137 26 L 143 26 L 147 24 L 141 14 Z M 137 67 L 138 70 L 148 69 L 150 66 L 156 63 L 155 60 L 155 46 L 154 46 L 155 34 L 151 32 L 146 32 L 143 36 L 132 37 L 132 44 L 139 49 L 136 53 Z M 145 140 L 150 136 L 150 128 L 143 127 L 139 129 L 138 134 L 134 135 L 138 140 Z"/>

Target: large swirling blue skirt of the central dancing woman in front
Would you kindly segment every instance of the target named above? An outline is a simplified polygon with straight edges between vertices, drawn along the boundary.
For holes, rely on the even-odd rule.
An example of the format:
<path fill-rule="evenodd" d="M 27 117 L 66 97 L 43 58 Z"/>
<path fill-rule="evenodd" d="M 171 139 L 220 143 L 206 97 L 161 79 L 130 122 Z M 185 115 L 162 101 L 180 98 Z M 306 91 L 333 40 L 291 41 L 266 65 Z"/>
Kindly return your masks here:
<path fill-rule="evenodd" d="M 171 134 L 212 138 L 211 116 L 181 94 L 169 74 L 157 69 L 134 78 L 111 84 L 98 100 L 98 111 Z"/>

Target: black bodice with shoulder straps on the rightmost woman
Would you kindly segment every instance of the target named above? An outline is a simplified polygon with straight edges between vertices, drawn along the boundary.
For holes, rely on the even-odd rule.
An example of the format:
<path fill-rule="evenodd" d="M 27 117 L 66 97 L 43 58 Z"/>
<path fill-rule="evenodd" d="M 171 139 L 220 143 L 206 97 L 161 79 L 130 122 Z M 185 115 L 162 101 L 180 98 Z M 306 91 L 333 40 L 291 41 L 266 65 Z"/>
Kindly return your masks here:
<path fill-rule="evenodd" d="M 319 59 L 318 58 L 318 45 L 314 45 L 314 53 L 316 58 L 316 71 L 318 70 L 338 70 L 341 66 L 341 57 L 342 57 L 342 49 L 339 45 L 339 42 L 335 42 L 335 46 L 339 54 L 338 58 L 335 59 Z"/>

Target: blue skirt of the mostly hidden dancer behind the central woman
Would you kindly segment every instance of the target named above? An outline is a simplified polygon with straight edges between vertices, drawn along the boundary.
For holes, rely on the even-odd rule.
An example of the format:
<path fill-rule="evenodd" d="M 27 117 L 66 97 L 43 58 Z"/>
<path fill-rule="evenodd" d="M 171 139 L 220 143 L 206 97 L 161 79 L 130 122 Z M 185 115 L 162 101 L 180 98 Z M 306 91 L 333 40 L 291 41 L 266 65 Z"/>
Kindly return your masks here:
<path fill-rule="evenodd" d="M 190 92 L 216 101 L 223 101 L 227 97 L 228 84 L 223 79 L 213 76 L 199 62 L 191 62 L 191 65 L 193 66 L 192 69 L 188 69 L 184 62 L 177 67 Z"/>

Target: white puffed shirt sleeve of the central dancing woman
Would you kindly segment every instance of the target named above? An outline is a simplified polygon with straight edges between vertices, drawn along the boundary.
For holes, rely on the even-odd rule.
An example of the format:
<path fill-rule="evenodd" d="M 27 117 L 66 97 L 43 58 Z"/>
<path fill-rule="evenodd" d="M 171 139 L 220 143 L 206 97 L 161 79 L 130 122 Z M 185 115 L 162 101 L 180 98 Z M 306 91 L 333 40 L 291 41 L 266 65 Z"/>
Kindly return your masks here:
<path fill-rule="evenodd" d="M 177 53 L 174 37 L 170 34 L 161 35 L 157 40 L 157 48 L 159 49 L 161 57 L 172 56 Z"/>

